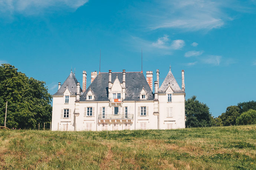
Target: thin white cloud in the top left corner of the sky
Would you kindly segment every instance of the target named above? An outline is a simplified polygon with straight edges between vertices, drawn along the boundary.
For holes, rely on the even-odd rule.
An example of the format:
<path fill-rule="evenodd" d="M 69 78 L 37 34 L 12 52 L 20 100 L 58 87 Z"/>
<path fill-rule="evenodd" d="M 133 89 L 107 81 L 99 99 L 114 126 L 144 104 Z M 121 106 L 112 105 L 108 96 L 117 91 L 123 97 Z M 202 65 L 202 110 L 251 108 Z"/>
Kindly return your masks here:
<path fill-rule="evenodd" d="M 88 0 L 0 0 L 0 12 L 13 14 L 38 14 L 47 8 L 72 8 L 77 9 Z"/>

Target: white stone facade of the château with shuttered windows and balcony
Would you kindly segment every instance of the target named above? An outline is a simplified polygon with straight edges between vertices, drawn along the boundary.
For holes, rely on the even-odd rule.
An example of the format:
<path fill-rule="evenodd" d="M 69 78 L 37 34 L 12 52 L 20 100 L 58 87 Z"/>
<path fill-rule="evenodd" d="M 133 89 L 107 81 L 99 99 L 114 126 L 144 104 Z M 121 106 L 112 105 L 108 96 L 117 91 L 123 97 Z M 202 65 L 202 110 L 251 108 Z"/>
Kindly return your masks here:
<path fill-rule="evenodd" d="M 92 89 L 93 86 L 91 85 L 86 92 L 80 91 L 80 87 L 77 86 L 76 93 L 74 92 L 75 89 L 72 90 L 73 84 L 72 87 L 67 84 L 65 84 L 66 86 L 62 85 L 65 86 L 64 92 L 53 95 L 52 130 L 99 131 L 185 128 L 185 92 L 175 92 L 169 83 L 164 93 L 158 93 L 158 89 L 155 89 L 154 96 L 150 98 L 150 93 L 145 90 L 148 91 L 150 87 L 144 89 L 143 86 L 138 94 L 140 95 L 138 99 L 125 100 L 126 95 L 128 98 L 128 92 L 126 92 L 128 87 L 125 87 L 128 80 L 125 80 L 125 71 L 122 74 L 122 82 L 119 82 L 116 75 L 112 83 L 111 74 L 108 75 L 110 76 L 108 101 L 97 100 L 96 89 Z M 112 75 L 114 76 L 115 73 Z M 95 77 L 95 83 L 98 76 Z M 105 79 L 105 81 L 108 80 Z M 158 88 L 157 81 L 155 87 Z M 113 93 L 121 96 L 113 96 Z M 83 101 L 82 94 L 85 96 Z"/>

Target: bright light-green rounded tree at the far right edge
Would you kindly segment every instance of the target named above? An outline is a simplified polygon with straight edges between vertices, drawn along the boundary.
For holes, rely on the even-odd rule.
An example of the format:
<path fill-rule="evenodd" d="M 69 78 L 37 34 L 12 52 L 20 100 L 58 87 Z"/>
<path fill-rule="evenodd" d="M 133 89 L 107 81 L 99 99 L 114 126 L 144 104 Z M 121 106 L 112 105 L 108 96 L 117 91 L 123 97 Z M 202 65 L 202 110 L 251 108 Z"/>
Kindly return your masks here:
<path fill-rule="evenodd" d="M 237 119 L 237 125 L 254 125 L 256 124 L 256 110 L 250 109 L 243 112 Z"/>

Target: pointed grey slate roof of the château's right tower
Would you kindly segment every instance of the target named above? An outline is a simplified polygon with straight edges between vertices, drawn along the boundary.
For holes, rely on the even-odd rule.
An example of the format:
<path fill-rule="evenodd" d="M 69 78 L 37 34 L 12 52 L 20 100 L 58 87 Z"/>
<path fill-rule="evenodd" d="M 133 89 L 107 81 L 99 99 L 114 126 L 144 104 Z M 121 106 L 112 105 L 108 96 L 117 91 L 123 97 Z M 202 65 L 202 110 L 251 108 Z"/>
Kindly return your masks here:
<path fill-rule="evenodd" d="M 174 93 L 184 93 L 183 91 L 181 91 L 180 86 L 178 85 L 176 79 L 173 76 L 173 73 L 171 72 L 171 69 L 168 72 L 167 76 L 165 77 L 164 82 L 160 86 L 158 93 L 165 93 L 169 86 L 169 83 Z"/>

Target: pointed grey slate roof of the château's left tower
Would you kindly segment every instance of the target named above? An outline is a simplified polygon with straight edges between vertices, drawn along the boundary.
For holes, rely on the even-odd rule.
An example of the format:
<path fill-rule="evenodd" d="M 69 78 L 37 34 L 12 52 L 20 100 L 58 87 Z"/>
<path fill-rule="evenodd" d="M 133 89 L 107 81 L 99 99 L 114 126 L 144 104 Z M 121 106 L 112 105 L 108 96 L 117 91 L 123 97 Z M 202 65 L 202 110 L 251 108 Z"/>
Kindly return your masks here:
<path fill-rule="evenodd" d="M 78 83 L 75 74 L 71 71 L 69 74 L 68 78 L 65 80 L 65 82 L 62 84 L 60 89 L 54 94 L 54 95 L 63 95 L 65 92 L 67 86 L 69 88 L 69 91 L 71 92 L 72 95 L 76 94 L 76 84 Z M 82 89 L 80 88 L 80 93 L 82 92 Z M 53 95 L 53 96 L 54 96 Z"/>

